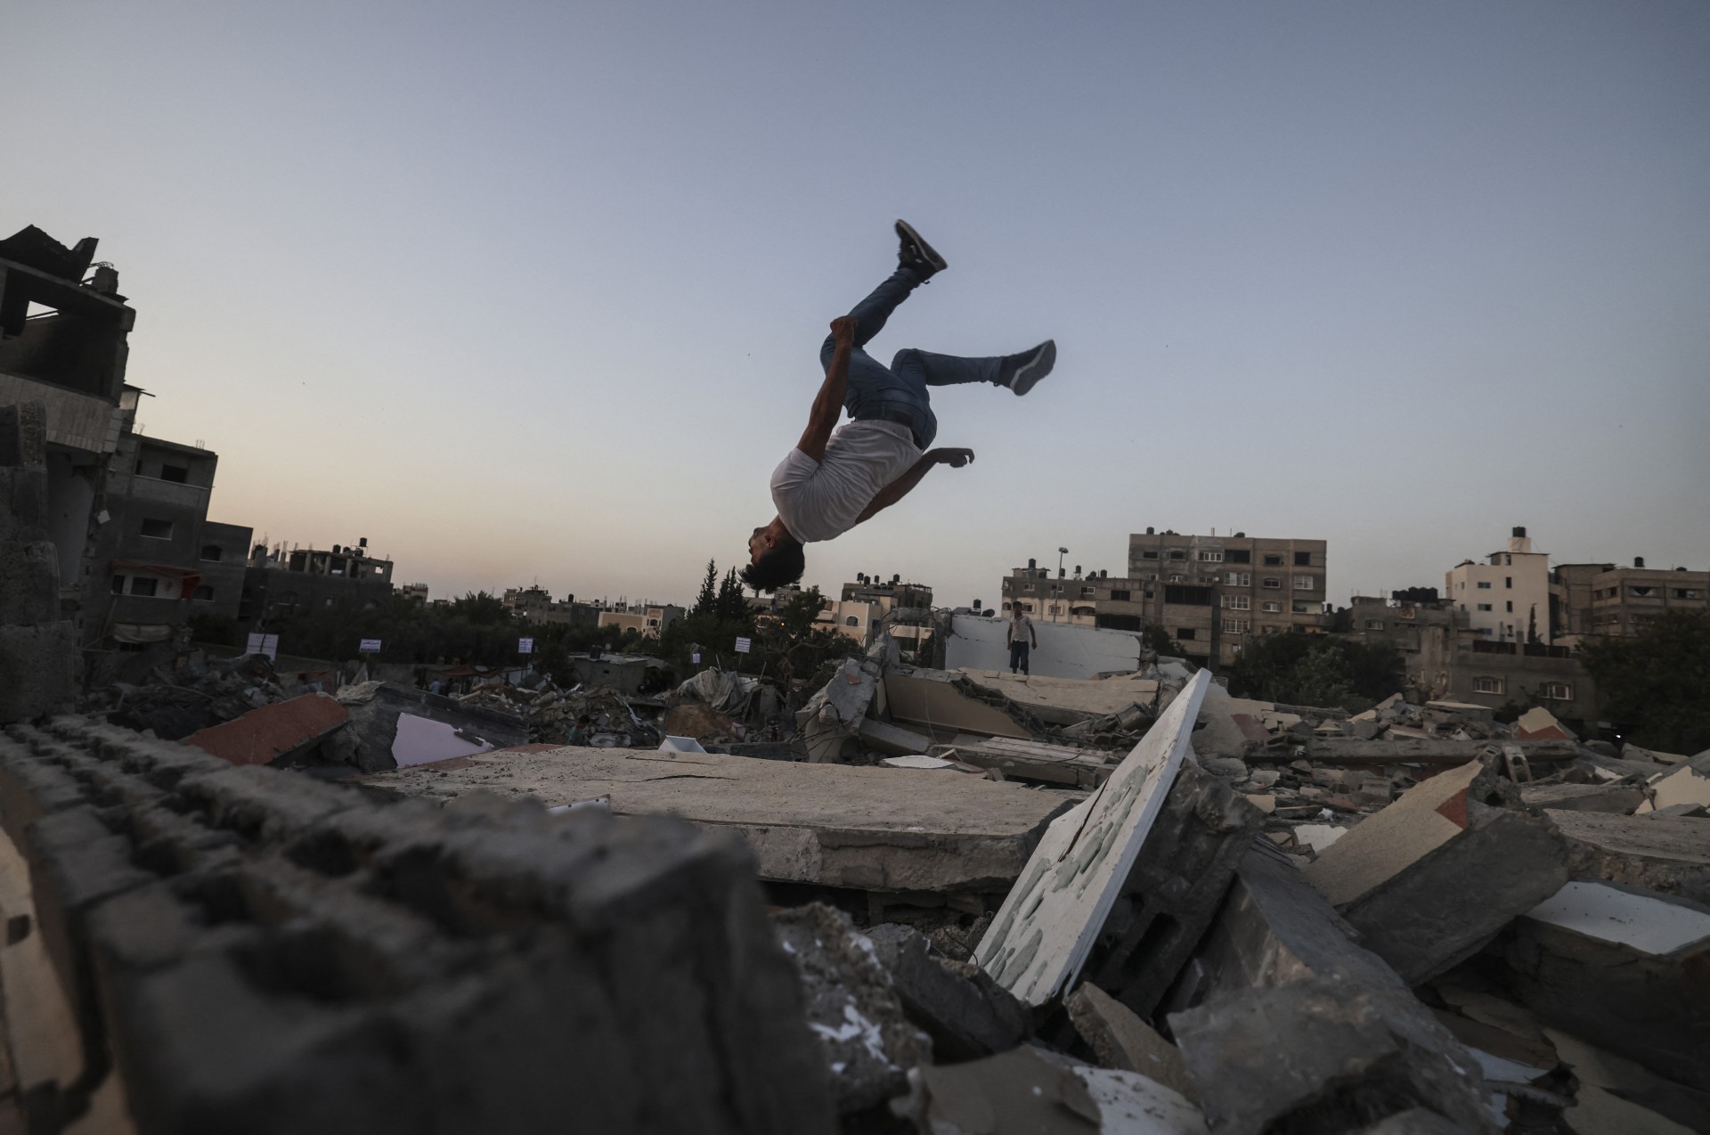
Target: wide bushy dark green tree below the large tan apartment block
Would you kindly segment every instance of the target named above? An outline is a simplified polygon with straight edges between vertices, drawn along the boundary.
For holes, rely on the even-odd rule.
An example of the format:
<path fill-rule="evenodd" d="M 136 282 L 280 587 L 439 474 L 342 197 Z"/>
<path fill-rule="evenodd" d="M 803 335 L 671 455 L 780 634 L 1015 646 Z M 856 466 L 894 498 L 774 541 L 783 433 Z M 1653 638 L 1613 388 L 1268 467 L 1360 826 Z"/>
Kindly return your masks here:
<path fill-rule="evenodd" d="M 1228 670 L 1236 697 L 1296 706 L 1370 709 L 1406 680 L 1400 653 L 1389 643 L 1356 643 L 1289 631 L 1253 639 Z"/>

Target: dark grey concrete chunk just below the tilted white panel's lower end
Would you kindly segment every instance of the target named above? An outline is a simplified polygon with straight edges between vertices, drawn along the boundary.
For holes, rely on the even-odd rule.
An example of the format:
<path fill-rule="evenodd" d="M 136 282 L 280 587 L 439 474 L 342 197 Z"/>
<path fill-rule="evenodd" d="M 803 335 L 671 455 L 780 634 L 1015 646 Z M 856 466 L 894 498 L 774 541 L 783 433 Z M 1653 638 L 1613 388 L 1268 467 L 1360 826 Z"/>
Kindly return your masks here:
<path fill-rule="evenodd" d="M 976 1060 L 1033 1032 L 1033 1014 L 971 962 L 932 956 L 923 933 L 887 923 L 867 932 L 903 1012 L 932 1038 L 940 1061 Z"/>

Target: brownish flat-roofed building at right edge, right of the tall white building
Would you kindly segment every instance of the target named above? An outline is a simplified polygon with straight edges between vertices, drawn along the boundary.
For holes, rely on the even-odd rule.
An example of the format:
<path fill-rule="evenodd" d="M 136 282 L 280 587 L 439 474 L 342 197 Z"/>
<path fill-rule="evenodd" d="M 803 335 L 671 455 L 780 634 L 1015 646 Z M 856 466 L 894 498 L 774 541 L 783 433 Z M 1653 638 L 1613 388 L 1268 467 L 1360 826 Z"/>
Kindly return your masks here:
<path fill-rule="evenodd" d="M 1638 634 L 1647 622 L 1674 610 L 1710 603 L 1710 571 L 1558 564 L 1549 574 L 1549 624 L 1556 639 L 1577 644 L 1587 634 Z"/>

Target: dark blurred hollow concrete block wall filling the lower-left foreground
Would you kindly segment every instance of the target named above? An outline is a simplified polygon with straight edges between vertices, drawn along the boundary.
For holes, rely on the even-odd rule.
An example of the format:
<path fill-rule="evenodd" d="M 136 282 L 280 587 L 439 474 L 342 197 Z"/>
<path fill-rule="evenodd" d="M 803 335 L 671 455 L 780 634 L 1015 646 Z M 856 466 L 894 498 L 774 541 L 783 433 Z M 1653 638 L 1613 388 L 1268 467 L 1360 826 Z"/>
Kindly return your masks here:
<path fill-rule="evenodd" d="M 139 1132 L 829 1132 L 740 843 L 374 803 L 80 718 L 0 737 L 0 829 Z"/>

